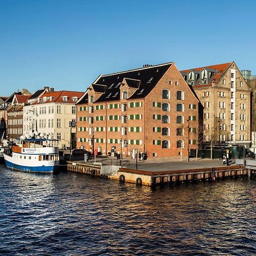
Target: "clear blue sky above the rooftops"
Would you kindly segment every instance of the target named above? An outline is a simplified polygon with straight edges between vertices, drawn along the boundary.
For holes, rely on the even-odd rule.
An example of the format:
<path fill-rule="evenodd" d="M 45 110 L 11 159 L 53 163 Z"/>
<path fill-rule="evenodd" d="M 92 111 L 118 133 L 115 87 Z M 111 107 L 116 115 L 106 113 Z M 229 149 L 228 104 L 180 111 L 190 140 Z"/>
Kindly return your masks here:
<path fill-rule="evenodd" d="M 0 0 L 0 95 L 85 89 L 100 74 L 236 61 L 256 74 L 256 1 Z"/>

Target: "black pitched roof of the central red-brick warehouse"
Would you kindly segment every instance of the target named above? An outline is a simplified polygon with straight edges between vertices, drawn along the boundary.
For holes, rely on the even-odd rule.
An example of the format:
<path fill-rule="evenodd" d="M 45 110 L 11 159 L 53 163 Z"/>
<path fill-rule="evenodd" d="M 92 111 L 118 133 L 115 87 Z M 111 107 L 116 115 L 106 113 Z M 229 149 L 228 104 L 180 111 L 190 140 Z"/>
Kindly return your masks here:
<path fill-rule="evenodd" d="M 106 85 L 103 94 L 96 102 L 113 101 L 120 99 L 120 86 L 123 79 L 126 80 L 127 85 L 132 88 L 138 88 L 130 98 L 144 98 L 155 87 L 158 81 L 162 78 L 167 69 L 172 63 L 154 65 L 151 67 L 144 67 L 113 73 L 109 75 L 101 75 L 93 84 L 93 89 L 100 84 Z M 100 89 L 97 89 L 98 92 Z M 79 102 L 80 104 L 81 102 Z"/>

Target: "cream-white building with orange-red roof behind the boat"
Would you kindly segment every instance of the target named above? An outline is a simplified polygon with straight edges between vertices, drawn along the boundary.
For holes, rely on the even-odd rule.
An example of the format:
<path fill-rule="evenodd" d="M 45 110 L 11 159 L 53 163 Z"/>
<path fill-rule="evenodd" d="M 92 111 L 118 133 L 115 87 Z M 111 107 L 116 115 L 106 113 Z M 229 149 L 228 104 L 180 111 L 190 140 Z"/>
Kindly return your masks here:
<path fill-rule="evenodd" d="M 23 108 L 23 132 L 38 131 L 52 135 L 59 141 L 59 148 L 72 148 L 76 143 L 76 128 L 69 127 L 70 121 L 76 121 L 76 102 L 83 92 L 46 91 L 31 105 Z"/>

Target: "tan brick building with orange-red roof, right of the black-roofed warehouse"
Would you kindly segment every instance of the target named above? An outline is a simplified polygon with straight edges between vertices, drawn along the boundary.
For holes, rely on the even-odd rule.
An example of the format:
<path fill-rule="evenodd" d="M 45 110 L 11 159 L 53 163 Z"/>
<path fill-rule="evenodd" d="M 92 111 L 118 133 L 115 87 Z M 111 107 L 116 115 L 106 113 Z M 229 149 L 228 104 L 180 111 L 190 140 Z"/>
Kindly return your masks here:
<path fill-rule="evenodd" d="M 234 61 L 181 71 L 204 106 L 204 140 L 250 145 L 250 89 Z"/>

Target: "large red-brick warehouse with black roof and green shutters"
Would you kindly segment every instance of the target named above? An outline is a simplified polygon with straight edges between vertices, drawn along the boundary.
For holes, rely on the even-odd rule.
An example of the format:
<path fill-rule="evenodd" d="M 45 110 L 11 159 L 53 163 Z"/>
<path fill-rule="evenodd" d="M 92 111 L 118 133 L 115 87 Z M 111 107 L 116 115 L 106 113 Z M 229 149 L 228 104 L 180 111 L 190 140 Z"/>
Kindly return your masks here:
<path fill-rule="evenodd" d="M 100 75 L 76 105 L 77 147 L 126 157 L 197 147 L 203 107 L 174 63 Z"/>

